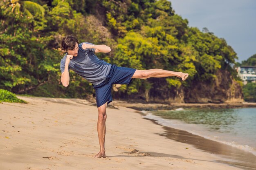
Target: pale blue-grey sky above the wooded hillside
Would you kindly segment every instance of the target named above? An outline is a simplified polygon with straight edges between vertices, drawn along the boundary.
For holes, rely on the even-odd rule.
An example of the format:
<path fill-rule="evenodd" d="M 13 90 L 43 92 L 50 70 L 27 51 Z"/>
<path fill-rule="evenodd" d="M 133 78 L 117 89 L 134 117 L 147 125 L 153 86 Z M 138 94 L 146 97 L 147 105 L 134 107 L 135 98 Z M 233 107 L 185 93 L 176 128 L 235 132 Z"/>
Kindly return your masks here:
<path fill-rule="evenodd" d="M 238 62 L 256 54 L 256 0 L 171 0 L 189 26 L 207 27 L 224 38 L 237 53 Z"/>

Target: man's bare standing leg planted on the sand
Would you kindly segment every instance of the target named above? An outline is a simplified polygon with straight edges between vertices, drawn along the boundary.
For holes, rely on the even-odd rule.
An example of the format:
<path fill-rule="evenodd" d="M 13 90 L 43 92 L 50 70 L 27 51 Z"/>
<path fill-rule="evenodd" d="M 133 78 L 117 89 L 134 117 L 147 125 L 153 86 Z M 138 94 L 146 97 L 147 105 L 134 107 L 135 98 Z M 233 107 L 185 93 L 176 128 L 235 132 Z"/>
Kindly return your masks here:
<path fill-rule="evenodd" d="M 95 158 L 101 158 L 101 157 L 106 158 L 105 135 L 106 135 L 107 103 L 108 102 L 98 107 L 99 116 L 98 116 L 97 130 L 98 130 L 100 151 L 97 155 L 95 155 Z"/>

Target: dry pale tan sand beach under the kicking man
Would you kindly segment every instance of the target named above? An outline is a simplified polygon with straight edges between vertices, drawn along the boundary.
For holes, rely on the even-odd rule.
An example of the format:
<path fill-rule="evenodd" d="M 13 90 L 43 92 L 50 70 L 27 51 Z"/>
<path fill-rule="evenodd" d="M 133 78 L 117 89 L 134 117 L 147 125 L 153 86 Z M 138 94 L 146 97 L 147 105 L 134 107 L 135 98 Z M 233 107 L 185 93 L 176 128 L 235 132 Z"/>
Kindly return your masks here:
<path fill-rule="evenodd" d="M 0 170 L 240 170 L 159 135 L 166 132 L 162 126 L 124 106 L 107 108 L 107 157 L 97 159 L 97 106 L 83 99 L 19 98 L 28 104 L 0 104 Z"/>

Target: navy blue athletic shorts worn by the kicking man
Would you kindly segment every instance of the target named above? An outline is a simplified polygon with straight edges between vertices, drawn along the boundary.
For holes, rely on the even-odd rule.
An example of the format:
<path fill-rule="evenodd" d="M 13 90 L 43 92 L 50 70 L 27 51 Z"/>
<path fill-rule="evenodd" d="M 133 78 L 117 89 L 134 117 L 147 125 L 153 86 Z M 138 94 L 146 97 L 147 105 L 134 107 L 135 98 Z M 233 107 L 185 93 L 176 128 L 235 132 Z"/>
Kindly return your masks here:
<path fill-rule="evenodd" d="M 96 93 L 97 107 L 106 102 L 108 102 L 108 104 L 112 102 L 112 84 L 130 84 L 135 71 L 135 68 L 119 67 L 112 64 L 106 80 L 96 86 L 92 84 Z"/>

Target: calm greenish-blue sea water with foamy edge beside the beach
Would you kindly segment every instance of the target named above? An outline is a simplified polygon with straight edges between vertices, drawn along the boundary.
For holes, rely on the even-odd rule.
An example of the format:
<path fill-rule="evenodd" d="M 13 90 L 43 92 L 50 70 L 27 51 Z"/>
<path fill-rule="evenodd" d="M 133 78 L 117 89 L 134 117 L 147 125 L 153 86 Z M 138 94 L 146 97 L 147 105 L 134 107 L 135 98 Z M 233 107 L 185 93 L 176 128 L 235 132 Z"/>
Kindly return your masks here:
<path fill-rule="evenodd" d="M 256 155 L 256 108 L 150 111 L 144 116 Z"/>

